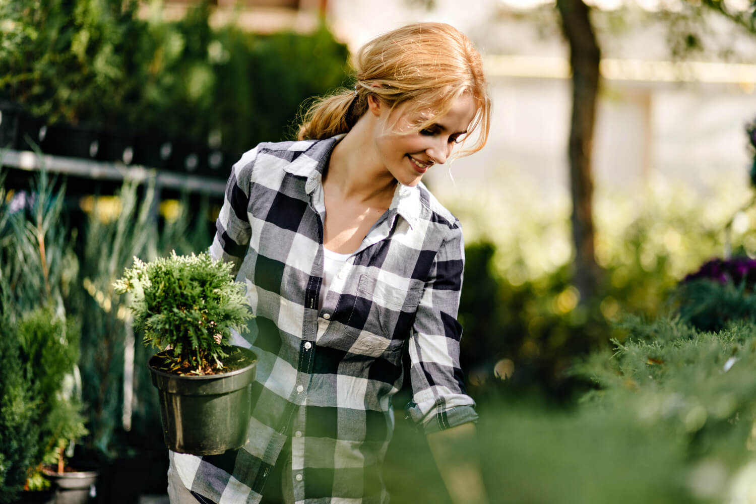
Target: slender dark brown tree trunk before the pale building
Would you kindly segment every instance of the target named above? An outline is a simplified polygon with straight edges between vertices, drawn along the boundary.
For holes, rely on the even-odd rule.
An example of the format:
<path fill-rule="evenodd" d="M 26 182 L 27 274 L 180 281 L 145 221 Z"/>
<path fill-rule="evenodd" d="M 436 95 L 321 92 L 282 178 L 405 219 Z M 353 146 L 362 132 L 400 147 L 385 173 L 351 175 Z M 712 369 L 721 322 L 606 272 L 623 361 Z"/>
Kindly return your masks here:
<path fill-rule="evenodd" d="M 570 47 L 572 119 L 569 135 L 569 172 L 572 191 L 572 238 L 575 243 L 575 286 L 581 302 L 596 293 L 600 270 L 593 246 L 593 123 L 599 87 L 601 51 L 582 0 L 557 0 L 562 32 Z"/>

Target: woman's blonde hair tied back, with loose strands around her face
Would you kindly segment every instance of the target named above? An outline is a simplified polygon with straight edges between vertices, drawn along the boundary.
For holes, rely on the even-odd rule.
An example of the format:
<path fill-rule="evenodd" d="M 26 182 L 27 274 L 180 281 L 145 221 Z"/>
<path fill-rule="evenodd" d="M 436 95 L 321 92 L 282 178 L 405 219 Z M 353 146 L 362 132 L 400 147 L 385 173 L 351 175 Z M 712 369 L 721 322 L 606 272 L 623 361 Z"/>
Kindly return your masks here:
<path fill-rule="evenodd" d="M 413 131 L 428 127 L 448 113 L 460 94 L 469 92 L 476 115 L 465 138 L 480 130 L 474 153 L 485 145 L 491 122 L 491 99 L 480 54 L 472 42 L 444 23 L 414 23 L 367 42 L 354 62 L 355 88 L 341 88 L 314 101 L 299 126 L 299 140 L 347 133 L 367 112 L 367 97 L 376 95 L 392 110 L 406 104 L 405 114 L 427 113 Z"/>

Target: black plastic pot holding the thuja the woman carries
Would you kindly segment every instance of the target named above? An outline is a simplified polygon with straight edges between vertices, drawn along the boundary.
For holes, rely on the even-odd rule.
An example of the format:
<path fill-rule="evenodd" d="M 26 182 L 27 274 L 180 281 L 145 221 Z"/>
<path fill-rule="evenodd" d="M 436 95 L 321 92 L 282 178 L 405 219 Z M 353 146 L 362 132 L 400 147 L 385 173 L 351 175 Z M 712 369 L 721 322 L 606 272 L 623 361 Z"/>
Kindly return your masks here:
<path fill-rule="evenodd" d="M 251 410 L 250 384 L 255 379 L 256 355 L 242 351 L 249 364 L 222 375 L 178 376 L 148 366 L 160 396 L 163 438 L 169 450 L 194 455 L 217 455 L 246 443 Z"/>

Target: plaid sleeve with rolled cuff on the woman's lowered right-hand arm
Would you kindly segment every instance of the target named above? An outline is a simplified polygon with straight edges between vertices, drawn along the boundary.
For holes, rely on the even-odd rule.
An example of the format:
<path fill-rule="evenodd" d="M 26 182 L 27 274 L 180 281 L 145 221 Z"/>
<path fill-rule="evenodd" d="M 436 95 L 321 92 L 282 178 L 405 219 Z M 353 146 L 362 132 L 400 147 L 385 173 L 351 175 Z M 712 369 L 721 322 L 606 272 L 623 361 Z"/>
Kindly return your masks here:
<path fill-rule="evenodd" d="M 407 416 L 426 434 L 478 419 L 460 369 L 464 244 L 456 224 L 435 255 L 409 341 L 413 401 Z"/>

